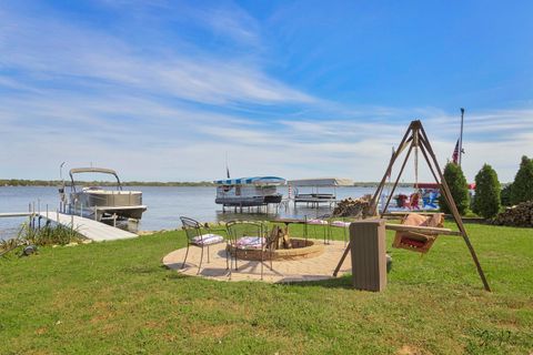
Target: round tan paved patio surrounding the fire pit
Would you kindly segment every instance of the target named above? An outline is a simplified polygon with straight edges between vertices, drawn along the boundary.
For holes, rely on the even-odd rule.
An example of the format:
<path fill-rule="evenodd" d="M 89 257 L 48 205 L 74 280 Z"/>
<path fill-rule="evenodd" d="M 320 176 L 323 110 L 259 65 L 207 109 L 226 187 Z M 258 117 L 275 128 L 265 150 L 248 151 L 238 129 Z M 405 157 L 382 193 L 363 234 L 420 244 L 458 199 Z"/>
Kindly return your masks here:
<path fill-rule="evenodd" d="M 321 242 L 316 241 L 316 243 Z M 197 246 L 189 248 L 189 256 L 182 268 L 185 251 L 187 247 L 183 247 L 169 253 L 163 257 L 163 264 L 183 275 L 201 276 L 219 281 L 261 281 L 261 263 L 257 261 L 239 260 L 239 270 L 233 270 L 230 276 L 225 263 L 225 244 L 210 246 L 210 263 L 208 263 L 207 257 L 208 250 L 204 250 L 200 273 L 198 273 L 198 263 L 200 262 L 201 248 Z M 333 271 L 341 260 L 343 252 L 344 243 L 332 241 L 330 244 L 324 245 L 324 252 L 319 256 L 294 261 L 273 261 L 272 270 L 270 268 L 270 261 L 265 261 L 263 264 L 263 281 L 285 283 L 333 278 Z M 349 272 L 351 272 L 350 255 L 348 255 L 342 264 L 339 275 Z"/>

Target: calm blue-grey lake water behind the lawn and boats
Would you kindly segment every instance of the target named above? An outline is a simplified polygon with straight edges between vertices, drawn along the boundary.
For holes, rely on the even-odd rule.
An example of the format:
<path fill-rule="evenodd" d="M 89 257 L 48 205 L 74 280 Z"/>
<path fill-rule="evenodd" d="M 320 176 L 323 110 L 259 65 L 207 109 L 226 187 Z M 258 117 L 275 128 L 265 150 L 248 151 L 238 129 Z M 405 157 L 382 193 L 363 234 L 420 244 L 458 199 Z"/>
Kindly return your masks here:
<path fill-rule="evenodd" d="M 167 187 L 167 186 L 128 186 L 128 190 L 140 190 L 143 193 L 143 204 L 148 205 L 142 216 L 139 230 L 172 230 L 181 225 L 180 215 L 190 216 L 201 222 L 229 221 L 234 219 L 273 219 L 283 217 L 315 217 L 330 213 L 326 206 L 320 209 L 308 209 L 303 204 L 298 209 L 289 203 L 288 209 L 279 209 L 278 213 L 273 206 L 269 213 L 222 213 L 222 207 L 214 203 L 215 187 Z M 283 196 L 288 196 L 288 187 L 278 189 Z M 360 197 L 364 194 L 372 194 L 374 187 L 336 187 L 338 199 Z M 301 193 L 311 192 L 311 189 L 300 187 Z M 320 192 L 332 193 L 333 189 L 321 189 Z M 396 192 L 411 193 L 412 189 L 399 189 Z M 34 203 L 36 209 L 40 204 L 41 211 L 56 211 L 59 206 L 59 194 L 57 187 L 44 186 L 1 186 L 0 187 L 0 213 L 1 212 L 26 212 L 28 204 Z M 0 219 L 0 239 L 13 236 L 18 227 L 26 219 Z"/>

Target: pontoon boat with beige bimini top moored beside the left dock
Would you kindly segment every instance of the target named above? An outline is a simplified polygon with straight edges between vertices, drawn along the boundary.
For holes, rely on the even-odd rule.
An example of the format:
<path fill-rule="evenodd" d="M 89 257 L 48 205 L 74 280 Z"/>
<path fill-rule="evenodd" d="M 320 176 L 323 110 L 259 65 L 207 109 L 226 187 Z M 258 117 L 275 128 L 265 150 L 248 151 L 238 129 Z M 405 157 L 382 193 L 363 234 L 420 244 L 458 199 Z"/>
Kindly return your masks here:
<path fill-rule="evenodd" d="M 100 186 L 78 187 L 74 182 L 74 174 L 102 173 L 110 174 L 117 179 L 117 190 L 104 190 Z M 117 172 L 103 168 L 78 168 L 71 169 L 71 193 L 68 205 L 71 214 L 80 214 L 100 221 L 105 217 L 140 220 L 147 206 L 142 204 L 141 191 L 125 191 L 122 189 Z M 60 191 L 60 193 L 64 193 Z M 62 199 L 64 200 L 64 199 Z"/>

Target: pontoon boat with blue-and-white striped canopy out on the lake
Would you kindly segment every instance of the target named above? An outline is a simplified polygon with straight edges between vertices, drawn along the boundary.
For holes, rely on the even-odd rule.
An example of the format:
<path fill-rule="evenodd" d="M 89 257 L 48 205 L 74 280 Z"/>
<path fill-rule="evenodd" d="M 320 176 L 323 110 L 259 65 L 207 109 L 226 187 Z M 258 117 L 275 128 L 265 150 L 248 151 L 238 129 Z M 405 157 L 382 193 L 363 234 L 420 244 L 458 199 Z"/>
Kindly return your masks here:
<path fill-rule="evenodd" d="M 214 203 L 223 206 L 263 206 L 280 203 L 283 195 L 276 186 L 285 180 L 276 176 L 255 176 L 217 180 L 217 197 Z"/>

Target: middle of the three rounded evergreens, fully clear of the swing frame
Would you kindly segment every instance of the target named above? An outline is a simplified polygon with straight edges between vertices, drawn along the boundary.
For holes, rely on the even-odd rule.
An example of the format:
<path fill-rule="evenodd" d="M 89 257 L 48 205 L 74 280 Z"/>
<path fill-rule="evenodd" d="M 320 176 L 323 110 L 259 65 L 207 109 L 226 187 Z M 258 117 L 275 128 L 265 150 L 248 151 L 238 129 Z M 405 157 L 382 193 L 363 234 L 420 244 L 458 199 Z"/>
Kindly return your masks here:
<path fill-rule="evenodd" d="M 492 219 L 501 207 L 500 181 L 491 165 L 484 164 L 475 175 L 475 199 L 472 210 L 485 219 Z"/>

